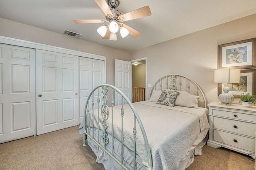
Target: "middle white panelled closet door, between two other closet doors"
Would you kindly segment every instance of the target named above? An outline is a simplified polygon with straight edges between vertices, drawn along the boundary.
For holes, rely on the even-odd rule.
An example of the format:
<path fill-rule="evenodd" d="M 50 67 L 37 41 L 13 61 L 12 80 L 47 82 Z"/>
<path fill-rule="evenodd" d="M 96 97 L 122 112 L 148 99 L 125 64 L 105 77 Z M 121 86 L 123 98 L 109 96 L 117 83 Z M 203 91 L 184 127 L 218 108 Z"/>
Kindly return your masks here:
<path fill-rule="evenodd" d="M 36 134 L 78 125 L 78 56 L 36 50 Z"/>

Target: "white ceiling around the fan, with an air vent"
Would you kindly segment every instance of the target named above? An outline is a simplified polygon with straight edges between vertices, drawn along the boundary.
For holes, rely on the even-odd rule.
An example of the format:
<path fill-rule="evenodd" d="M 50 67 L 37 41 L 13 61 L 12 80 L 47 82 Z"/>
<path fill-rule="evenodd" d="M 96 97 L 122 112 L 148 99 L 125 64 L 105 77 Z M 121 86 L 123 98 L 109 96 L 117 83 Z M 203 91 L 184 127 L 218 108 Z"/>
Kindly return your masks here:
<path fill-rule="evenodd" d="M 192 32 L 256 13 L 256 0 L 120 0 L 121 14 L 149 6 L 152 15 L 124 22 L 141 32 L 117 41 L 102 40 L 97 24 L 75 24 L 73 19 L 104 20 L 94 0 L 0 0 L 0 18 L 59 34 L 70 30 L 79 39 L 122 51 L 135 51 Z"/>

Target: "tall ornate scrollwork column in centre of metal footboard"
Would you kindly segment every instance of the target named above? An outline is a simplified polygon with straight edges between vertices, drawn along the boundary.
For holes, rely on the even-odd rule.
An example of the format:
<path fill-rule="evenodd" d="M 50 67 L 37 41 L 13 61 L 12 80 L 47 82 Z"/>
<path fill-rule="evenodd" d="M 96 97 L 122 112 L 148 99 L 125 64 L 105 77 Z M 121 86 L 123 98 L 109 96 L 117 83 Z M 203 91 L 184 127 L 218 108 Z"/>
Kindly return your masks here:
<path fill-rule="evenodd" d="M 103 93 L 102 102 L 103 102 L 103 105 L 101 107 L 101 117 L 103 119 L 103 121 L 102 121 L 103 133 L 101 135 L 101 138 L 104 142 L 104 148 L 105 149 L 106 149 L 106 145 L 109 142 L 108 133 L 107 133 L 107 128 L 108 128 L 107 120 L 108 120 L 108 115 L 109 115 L 109 110 L 108 110 L 108 105 L 107 105 L 107 101 L 108 101 L 107 92 L 108 92 L 108 87 L 106 87 L 106 86 L 102 87 L 102 93 Z"/>

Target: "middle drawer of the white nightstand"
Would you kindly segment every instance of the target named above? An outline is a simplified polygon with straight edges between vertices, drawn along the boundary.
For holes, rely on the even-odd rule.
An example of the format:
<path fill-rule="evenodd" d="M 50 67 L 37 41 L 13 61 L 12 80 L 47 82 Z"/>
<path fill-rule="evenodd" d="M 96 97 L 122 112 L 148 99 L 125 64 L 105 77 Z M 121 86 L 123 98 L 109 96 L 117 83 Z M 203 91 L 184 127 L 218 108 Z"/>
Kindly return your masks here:
<path fill-rule="evenodd" d="M 255 137 L 256 131 L 256 124 L 223 119 L 219 117 L 213 118 L 213 127 L 251 137 Z"/>

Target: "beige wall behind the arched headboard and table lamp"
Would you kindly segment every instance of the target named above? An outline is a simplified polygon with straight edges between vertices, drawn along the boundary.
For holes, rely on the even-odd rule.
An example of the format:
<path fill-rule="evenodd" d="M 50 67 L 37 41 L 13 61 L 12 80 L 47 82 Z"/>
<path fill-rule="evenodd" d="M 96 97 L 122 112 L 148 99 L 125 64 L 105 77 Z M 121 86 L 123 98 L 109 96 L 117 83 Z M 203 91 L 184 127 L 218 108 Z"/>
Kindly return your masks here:
<path fill-rule="evenodd" d="M 157 33 L 154 33 L 157 35 Z M 147 83 L 168 74 L 196 81 L 208 99 L 218 101 L 214 83 L 218 45 L 256 37 L 256 14 L 131 52 L 130 60 L 147 57 Z M 147 98 L 150 88 L 147 88 Z"/>

